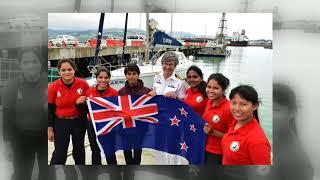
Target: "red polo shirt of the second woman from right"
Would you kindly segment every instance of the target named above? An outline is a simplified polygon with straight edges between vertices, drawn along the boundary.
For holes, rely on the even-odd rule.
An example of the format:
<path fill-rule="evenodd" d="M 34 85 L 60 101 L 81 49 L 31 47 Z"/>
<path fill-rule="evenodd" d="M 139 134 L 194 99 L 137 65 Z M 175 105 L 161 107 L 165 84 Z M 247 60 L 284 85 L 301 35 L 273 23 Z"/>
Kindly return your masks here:
<path fill-rule="evenodd" d="M 227 133 L 233 120 L 230 112 L 230 101 L 224 98 L 216 106 L 212 106 L 212 100 L 208 100 L 202 118 L 214 130 Z M 213 154 L 222 154 L 221 139 L 216 136 L 207 135 L 206 151 Z"/>

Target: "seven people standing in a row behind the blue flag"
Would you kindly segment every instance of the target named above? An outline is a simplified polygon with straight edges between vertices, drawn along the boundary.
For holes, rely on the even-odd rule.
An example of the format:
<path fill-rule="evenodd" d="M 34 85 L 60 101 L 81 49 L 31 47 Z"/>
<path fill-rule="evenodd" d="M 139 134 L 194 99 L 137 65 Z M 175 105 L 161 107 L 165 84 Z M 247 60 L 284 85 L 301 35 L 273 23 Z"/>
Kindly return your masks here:
<path fill-rule="evenodd" d="M 175 74 L 178 58 L 174 52 L 166 52 L 161 59 L 163 72 L 154 78 L 152 89 L 139 79 L 140 70 L 135 64 L 127 64 L 124 73 L 125 86 L 116 91 L 109 86 L 110 72 L 100 68 L 96 72 L 97 85 L 89 87 L 85 80 L 75 77 L 76 65 L 63 59 L 58 62 L 60 79 L 48 86 L 48 139 L 54 142 L 55 150 L 50 164 L 65 164 L 70 135 L 73 143 L 75 164 L 85 163 L 84 136 L 92 150 L 92 164 L 101 164 L 99 146 L 93 124 L 88 118 L 87 97 L 118 95 L 163 95 L 184 101 L 206 121 L 206 164 L 216 165 L 269 165 L 271 147 L 258 117 L 258 93 L 248 85 L 231 90 L 229 99 L 225 93 L 229 79 L 220 73 L 203 80 L 197 66 L 191 66 L 186 80 Z M 124 151 L 126 164 L 141 163 L 141 149 Z M 108 164 L 117 164 L 115 154 L 108 156 Z"/>

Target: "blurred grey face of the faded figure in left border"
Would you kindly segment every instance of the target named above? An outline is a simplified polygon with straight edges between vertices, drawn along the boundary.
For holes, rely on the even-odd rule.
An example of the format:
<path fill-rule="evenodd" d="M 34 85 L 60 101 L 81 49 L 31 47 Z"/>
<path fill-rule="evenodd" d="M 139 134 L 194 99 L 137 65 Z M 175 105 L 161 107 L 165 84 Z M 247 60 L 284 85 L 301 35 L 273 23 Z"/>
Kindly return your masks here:
<path fill-rule="evenodd" d="M 32 51 L 24 52 L 21 56 L 20 68 L 27 80 L 36 80 L 41 71 L 40 59 Z"/>

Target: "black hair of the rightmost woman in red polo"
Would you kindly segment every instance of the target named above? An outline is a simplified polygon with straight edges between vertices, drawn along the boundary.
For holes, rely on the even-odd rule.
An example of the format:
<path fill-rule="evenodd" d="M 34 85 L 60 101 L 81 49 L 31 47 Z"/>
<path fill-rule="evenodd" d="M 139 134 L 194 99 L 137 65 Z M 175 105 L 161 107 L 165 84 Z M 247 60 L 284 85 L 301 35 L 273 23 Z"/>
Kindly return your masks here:
<path fill-rule="evenodd" d="M 238 94 L 241 98 L 250 101 L 254 105 L 259 105 L 258 93 L 252 86 L 240 85 L 233 88 L 230 92 L 229 99 L 233 99 L 236 94 Z M 258 108 L 253 111 L 253 115 L 259 122 Z"/>

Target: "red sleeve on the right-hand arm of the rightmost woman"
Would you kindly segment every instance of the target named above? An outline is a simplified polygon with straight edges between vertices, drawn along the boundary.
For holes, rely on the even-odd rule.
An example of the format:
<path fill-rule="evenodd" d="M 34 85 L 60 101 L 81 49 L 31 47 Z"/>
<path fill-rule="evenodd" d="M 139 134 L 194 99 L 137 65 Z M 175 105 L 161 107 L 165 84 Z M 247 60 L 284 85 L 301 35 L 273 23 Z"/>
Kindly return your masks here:
<path fill-rule="evenodd" d="M 248 146 L 252 165 L 271 165 L 271 148 L 267 142 L 256 141 Z"/>

